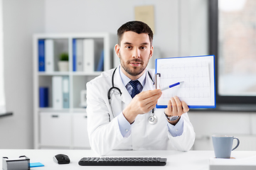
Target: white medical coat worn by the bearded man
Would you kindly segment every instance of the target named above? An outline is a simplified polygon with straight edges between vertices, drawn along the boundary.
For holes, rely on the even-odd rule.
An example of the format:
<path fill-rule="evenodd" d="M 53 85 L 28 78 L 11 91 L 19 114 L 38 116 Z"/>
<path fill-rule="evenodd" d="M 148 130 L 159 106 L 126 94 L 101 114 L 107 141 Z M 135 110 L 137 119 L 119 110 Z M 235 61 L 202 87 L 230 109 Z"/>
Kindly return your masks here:
<path fill-rule="evenodd" d="M 102 72 L 99 77 L 86 84 L 87 131 L 92 149 L 100 155 L 105 155 L 112 149 L 165 150 L 175 148 L 180 151 L 191 149 L 196 135 L 187 113 L 181 115 L 183 117 L 183 133 L 181 136 L 173 137 L 170 134 L 166 125 L 168 122 L 164 115 L 164 109 L 155 109 L 154 114 L 158 118 L 156 124 L 149 124 L 151 112 L 137 115 L 129 137 L 123 137 L 119 130 L 117 115 L 122 114 L 123 109 L 132 101 L 132 97 L 122 83 L 119 67 L 117 67 L 114 73 L 114 86 L 122 91 L 122 95 L 120 96 L 117 90 L 112 90 L 112 108 L 110 107 L 107 91 L 112 87 L 113 71 L 114 69 Z M 149 73 L 151 77 L 154 77 L 154 69 L 150 69 Z M 155 87 L 146 71 L 146 83 L 142 91 L 152 89 L 155 89 Z"/>

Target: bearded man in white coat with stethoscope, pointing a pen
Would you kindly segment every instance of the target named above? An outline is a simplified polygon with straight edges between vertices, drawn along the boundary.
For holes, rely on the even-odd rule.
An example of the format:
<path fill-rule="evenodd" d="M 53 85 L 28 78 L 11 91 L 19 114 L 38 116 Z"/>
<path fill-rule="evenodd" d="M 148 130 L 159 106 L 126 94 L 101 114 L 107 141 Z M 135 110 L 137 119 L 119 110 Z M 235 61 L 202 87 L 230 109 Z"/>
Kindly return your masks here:
<path fill-rule="evenodd" d="M 186 103 L 174 96 L 167 108 L 155 108 L 161 90 L 154 87 L 154 70 L 146 69 L 154 50 L 151 28 L 129 21 L 117 36 L 119 67 L 86 85 L 90 146 L 100 155 L 112 149 L 188 151 L 195 132 Z M 169 120 L 174 115 L 176 120 Z"/>

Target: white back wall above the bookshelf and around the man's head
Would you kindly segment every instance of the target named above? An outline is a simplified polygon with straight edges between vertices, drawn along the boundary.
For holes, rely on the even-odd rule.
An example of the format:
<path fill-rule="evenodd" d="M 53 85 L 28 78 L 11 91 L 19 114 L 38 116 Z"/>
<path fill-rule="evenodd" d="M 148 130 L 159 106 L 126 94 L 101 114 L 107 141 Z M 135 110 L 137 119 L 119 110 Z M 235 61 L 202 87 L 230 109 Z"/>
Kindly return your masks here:
<path fill-rule="evenodd" d="M 208 55 L 207 0 L 46 0 L 46 33 L 117 33 L 134 6 L 154 5 L 154 46 L 162 57 Z"/>

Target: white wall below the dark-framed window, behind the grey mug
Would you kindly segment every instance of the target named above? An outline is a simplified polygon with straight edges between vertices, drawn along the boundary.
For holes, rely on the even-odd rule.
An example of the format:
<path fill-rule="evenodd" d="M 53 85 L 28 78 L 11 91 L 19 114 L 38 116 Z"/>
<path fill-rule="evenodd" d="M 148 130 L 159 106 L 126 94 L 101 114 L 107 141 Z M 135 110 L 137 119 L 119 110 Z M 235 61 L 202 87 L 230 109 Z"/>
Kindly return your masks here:
<path fill-rule="evenodd" d="M 237 150 L 256 150 L 256 114 L 248 112 L 190 113 L 196 132 L 194 149 L 213 149 L 211 135 L 234 135 L 240 139 Z M 234 142 L 234 145 L 236 142 Z"/>

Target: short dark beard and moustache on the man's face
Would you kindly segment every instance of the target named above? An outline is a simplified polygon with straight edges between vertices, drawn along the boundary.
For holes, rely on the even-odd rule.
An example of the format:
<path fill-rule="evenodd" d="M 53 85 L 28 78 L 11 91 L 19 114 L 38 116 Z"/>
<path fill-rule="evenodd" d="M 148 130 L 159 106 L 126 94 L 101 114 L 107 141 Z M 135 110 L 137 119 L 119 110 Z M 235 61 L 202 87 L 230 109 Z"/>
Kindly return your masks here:
<path fill-rule="evenodd" d="M 144 62 L 139 58 L 128 60 L 127 62 L 125 62 L 124 60 L 122 60 L 121 54 L 119 55 L 120 55 L 120 64 L 122 68 L 124 69 L 125 72 L 127 72 L 131 76 L 138 76 L 139 74 L 142 74 L 142 72 L 144 72 L 144 70 L 146 69 L 147 64 L 149 63 L 149 59 L 148 59 L 146 61 L 146 65 L 144 65 Z M 140 66 L 132 67 L 129 65 L 130 62 L 139 62 Z"/>

